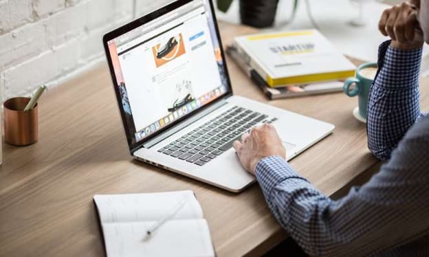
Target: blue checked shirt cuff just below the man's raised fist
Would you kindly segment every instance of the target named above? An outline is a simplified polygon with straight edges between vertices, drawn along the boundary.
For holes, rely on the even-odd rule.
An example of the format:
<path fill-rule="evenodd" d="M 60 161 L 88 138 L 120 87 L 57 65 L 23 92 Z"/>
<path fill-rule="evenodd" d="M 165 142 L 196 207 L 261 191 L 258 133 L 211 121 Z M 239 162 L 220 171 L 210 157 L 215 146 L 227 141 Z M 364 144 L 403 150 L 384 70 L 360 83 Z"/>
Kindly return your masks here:
<path fill-rule="evenodd" d="M 378 72 L 375 80 L 380 87 L 404 88 L 418 85 L 423 47 L 403 50 L 391 47 L 391 41 L 380 45 Z"/>

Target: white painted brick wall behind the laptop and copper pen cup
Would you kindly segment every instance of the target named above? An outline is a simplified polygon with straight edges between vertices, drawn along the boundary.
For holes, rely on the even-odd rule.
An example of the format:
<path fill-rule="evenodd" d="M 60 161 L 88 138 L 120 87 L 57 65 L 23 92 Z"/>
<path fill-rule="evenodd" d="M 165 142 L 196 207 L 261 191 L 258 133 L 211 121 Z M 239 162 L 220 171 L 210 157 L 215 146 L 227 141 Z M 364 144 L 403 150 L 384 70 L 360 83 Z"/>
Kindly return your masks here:
<path fill-rule="evenodd" d="M 55 86 L 104 61 L 105 32 L 169 1 L 0 0 L 3 100 Z"/>

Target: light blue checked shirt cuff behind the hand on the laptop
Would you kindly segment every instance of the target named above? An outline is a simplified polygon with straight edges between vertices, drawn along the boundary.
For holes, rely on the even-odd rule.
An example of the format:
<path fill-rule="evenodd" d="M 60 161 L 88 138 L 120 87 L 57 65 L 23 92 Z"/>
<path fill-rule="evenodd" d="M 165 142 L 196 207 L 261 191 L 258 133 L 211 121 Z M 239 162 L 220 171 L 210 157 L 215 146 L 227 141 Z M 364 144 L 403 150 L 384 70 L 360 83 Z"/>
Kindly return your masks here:
<path fill-rule="evenodd" d="M 300 179 L 309 183 L 307 179 L 289 166 L 285 159 L 278 156 L 270 156 L 256 164 L 256 180 L 259 182 L 265 199 L 269 199 L 272 190 L 282 181 L 287 179 Z"/>

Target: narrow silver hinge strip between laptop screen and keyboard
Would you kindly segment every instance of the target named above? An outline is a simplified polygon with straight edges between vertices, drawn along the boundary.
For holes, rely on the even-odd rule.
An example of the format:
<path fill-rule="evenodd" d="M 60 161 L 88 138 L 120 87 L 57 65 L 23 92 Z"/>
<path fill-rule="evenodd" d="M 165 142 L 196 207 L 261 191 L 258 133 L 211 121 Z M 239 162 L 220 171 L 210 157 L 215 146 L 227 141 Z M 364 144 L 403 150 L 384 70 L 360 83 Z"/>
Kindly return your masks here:
<path fill-rule="evenodd" d="M 184 120 L 184 122 L 181 122 L 180 124 L 177 124 L 176 126 L 173 126 L 173 128 L 168 129 L 161 135 L 158 135 L 157 137 L 154 137 L 153 139 L 149 140 L 148 142 L 143 144 L 144 148 L 151 148 L 152 146 L 155 146 L 155 144 L 158 144 L 159 142 L 162 142 L 162 140 L 170 137 L 171 135 L 174 135 L 175 133 L 181 131 L 182 129 L 185 129 L 190 124 L 196 122 L 197 120 L 200 120 L 201 118 L 204 118 L 208 113 L 211 113 L 213 111 L 216 111 L 220 107 L 223 107 L 223 105 L 227 104 L 226 99 L 223 99 L 216 104 L 213 104 L 213 106 L 208 107 L 208 109 L 201 111 L 195 115 L 190 116 L 190 118 Z"/>

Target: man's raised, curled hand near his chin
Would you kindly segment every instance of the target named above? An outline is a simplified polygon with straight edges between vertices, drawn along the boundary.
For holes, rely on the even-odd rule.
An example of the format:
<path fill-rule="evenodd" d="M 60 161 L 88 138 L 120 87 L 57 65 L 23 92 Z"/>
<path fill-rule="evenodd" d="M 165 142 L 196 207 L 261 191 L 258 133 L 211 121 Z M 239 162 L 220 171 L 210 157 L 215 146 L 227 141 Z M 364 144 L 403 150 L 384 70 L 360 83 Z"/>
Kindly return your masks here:
<path fill-rule="evenodd" d="M 378 28 L 392 38 L 397 49 L 417 49 L 423 46 L 423 33 L 417 21 L 420 0 L 411 0 L 384 10 Z"/>

